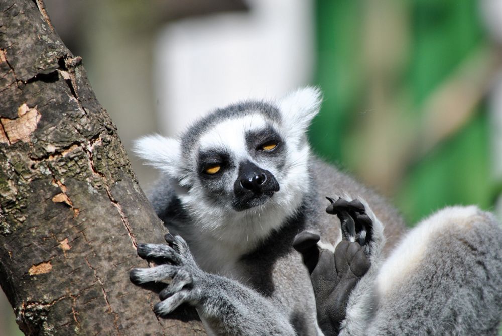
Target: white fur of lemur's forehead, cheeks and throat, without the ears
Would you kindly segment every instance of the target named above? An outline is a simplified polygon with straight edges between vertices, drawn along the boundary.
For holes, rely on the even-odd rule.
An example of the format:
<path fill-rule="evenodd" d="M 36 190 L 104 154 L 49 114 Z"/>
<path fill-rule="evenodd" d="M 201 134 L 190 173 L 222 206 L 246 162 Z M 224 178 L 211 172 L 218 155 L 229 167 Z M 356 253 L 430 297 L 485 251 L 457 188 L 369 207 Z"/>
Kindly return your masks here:
<path fill-rule="evenodd" d="M 196 218 L 197 234 L 193 234 L 193 239 L 199 242 L 192 252 L 197 262 L 206 270 L 221 272 L 221 268 L 231 267 L 232 261 L 249 252 L 273 229 L 280 227 L 287 217 L 293 215 L 309 187 L 310 149 L 307 143 L 301 148 L 292 147 L 288 143 L 289 139 L 283 138 L 286 162 L 281 170 L 267 160 L 256 162 L 248 152 L 246 132 L 258 131 L 270 123 L 267 123 L 262 115 L 252 114 L 224 121 L 200 138 L 199 150 L 216 149 L 228 152 L 236 166 L 241 161 L 249 160 L 270 171 L 280 187 L 264 205 L 237 212 L 231 204 L 214 206 L 204 197 L 204 189 L 198 179 L 193 179 L 194 186 L 188 194 L 181 195 L 180 199 L 189 213 Z M 272 126 L 283 136 L 283 128 L 274 124 Z M 233 192 L 233 181 L 237 179 L 237 175 L 238 169 L 234 169 L 230 179 L 232 183 L 227 186 L 229 193 Z M 214 260 L 218 260 L 218 265 L 215 265 Z"/>

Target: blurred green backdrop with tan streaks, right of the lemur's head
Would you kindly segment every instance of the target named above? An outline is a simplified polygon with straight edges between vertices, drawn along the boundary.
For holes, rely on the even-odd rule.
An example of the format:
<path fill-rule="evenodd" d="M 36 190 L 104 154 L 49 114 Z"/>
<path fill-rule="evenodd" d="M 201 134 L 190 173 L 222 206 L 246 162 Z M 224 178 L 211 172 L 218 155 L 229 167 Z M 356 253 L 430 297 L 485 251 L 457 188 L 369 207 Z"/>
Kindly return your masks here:
<path fill-rule="evenodd" d="M 425 153 L 410 141 L 437 127 L 425 123 L 432 97 L 445 83 L 455 87 L 459 67 L 486 45 L 477 1 L 374 3 L 317 0 L 324 101 L 310 132 L 314 150 L 395 198 L 409 223 L 450 204 L 489 209 L 495 183 L 481 96 L 465 123 Z"/>

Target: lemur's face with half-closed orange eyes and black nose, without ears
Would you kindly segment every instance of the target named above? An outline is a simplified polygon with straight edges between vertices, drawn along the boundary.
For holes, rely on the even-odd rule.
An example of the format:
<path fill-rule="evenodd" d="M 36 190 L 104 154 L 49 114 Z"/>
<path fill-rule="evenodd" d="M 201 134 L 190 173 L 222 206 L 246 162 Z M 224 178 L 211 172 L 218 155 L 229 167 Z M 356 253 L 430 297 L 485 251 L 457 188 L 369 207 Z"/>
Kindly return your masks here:
<path fill-rule="evenodd" d="M 215 205 L 264 206 L 281 188 L 288 144 L 260 113 L 229 119 L 200 137 L 197 178 Z M 277 176 L 277 178 L 276 178 Z"/>

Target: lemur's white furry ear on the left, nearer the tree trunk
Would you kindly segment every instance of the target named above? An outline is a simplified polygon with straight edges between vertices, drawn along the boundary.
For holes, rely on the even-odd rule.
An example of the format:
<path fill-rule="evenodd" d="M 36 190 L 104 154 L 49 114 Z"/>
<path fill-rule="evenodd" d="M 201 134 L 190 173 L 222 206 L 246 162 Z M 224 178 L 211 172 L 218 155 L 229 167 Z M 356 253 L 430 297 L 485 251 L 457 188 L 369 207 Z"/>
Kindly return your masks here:
<path fill-rule="evenodd" d="M 171 177 L 177 177 L 181 161 L 181 145 L 177 139 L 159 134 L 147 135 L 134 142 L 133 151 L 142 159 Z"/>

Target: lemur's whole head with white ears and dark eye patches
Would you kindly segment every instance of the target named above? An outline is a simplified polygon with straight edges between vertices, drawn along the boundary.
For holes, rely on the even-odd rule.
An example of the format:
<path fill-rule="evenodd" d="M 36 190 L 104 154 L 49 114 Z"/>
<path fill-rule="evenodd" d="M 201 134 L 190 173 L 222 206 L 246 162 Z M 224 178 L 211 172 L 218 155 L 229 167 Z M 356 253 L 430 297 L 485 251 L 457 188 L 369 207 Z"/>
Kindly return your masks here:
<path fill-rule="evenodd" d="M 308 188 L 306 130 L 320 101 L 320 91 L 308 87 L 276 104 L 237 103 L 178 138 L 143 137 L 135 151 L 167 175 L 182 204 L 201 221 L 229 214 L 248 220 L 281 208 L 291 214 Z"/>

